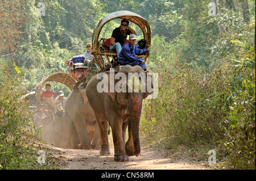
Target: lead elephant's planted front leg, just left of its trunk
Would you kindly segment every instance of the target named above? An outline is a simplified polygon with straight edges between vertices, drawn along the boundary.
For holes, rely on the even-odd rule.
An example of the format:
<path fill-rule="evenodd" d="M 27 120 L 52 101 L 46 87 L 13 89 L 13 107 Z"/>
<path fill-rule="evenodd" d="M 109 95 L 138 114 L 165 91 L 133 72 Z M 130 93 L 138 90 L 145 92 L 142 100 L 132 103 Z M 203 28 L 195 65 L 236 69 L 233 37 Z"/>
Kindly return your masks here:
<path fill-rule="evenodd" d="M 114 116 L 113 116 L 113 119 L 114 119 Z M 116 162 L 129 161 L 129 157 L 127 157 L 125 153 L 125 144 L 123 142 L 122 119 L 117 119 L 115 120 L 115 122 L 111 121 L 110 123 L 114 123 L 114 125 L 110 124 L 110 127 L 112 128 L 113 142 L 114 142 L 114 161 Z"/>

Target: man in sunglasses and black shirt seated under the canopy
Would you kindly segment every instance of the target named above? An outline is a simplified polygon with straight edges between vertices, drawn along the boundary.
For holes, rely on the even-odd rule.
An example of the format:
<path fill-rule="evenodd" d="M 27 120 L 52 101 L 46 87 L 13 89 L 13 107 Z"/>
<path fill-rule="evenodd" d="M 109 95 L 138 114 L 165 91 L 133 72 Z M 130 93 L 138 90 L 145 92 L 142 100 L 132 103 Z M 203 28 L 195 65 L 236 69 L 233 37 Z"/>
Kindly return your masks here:
<path fill-rule="evenodd" d="M 117 56 L 120 53 L 126 39 L 127 35 L 134 34 L 137 35 L 136 31 L 129 27 L 129 20 L 122 19 L 121 25 L 112 33 L 110 39 L 110 50 L 117 52 Z"/>

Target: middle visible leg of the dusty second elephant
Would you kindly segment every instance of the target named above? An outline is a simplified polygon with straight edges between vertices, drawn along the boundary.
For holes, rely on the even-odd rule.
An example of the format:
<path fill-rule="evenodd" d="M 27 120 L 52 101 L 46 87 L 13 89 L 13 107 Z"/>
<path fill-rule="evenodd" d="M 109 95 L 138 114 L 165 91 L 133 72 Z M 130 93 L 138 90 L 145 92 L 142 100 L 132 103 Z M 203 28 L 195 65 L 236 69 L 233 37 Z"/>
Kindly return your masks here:
<path fill-rule="evenodd" d="M 75 124 L 75 127 L 80 136 L 81 149 L 89 150 L 90 149 L 90 139 L 89 139 L 89 135 L 88 135 L 88 132 L 86 129 L 85 120 L 79 121 L 79 117 L 76 117 L 75 120 L 76 120 L 75 123 L 80 123 L 79 125 Z M 81 123 L 83 123 L 83 124 L 81 124 Z"/>

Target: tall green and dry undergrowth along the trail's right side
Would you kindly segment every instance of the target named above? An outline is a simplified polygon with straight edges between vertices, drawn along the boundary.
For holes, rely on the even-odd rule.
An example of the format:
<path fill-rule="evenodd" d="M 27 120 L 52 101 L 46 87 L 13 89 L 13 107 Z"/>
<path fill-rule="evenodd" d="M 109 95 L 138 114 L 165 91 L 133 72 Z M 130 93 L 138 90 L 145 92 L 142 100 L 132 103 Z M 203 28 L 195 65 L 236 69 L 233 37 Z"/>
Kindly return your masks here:
<path fill-rule="evenodd" d="M 212 69 L 155 66 L 158 97 L 143 102 L 143 138 L 168 149 L 216 149 L 229 169 L 255 169 L 255 45 L 242 36 L 231 41 L 239 51 Z"/>

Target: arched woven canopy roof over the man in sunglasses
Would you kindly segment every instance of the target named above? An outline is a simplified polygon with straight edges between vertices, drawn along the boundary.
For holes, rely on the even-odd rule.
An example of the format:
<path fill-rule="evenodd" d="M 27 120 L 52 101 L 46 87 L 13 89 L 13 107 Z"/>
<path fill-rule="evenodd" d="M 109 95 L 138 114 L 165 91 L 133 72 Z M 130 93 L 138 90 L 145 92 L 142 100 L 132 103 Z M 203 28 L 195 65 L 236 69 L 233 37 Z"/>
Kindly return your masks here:
<path fill-rule="evenodd" d="M 150 25 L 147 22 L 146 19 L 144 19 L 142 16 L 131 12 L 131 11 L 116 11 L 112 12 L 108 15 L 106 15 L 104 18 L 100 20 L 100 22 L 97 24 L 97 26 L 94 28 L 93 31 L 93 37 L 92 37 L 92 48 L 99 48 L 100 43 L 98 42 L 98 38 L 100 36 L 100 32 L 102 30 L 102 27 L 108 22 L 110 22 L 113 19 L 127 19 L 129 22 L 133 22 L 137 24 L 139 28 L 141 28 L 143 32 L 144 39 L 146 39 L 147 44 L 151 45 L 151 30 Z M 114 29 L 113 29 L 114 30 Z"/>

